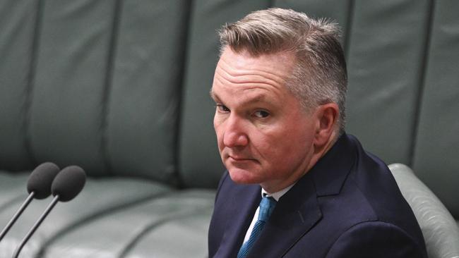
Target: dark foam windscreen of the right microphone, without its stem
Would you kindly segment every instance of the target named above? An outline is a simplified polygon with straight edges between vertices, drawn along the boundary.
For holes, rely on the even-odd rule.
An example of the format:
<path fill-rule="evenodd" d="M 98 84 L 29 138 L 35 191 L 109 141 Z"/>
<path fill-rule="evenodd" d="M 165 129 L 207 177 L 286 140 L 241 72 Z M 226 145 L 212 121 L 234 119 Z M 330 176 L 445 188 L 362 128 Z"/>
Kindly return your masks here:
<path fill-rule="evenodd" d="M 52 195 L 59 195 L 59 201 L 68 202 L 75 198 L 83 189 L 86 174 L 79 166 L 68 166 L 61 170 L 51 185 Z"/>

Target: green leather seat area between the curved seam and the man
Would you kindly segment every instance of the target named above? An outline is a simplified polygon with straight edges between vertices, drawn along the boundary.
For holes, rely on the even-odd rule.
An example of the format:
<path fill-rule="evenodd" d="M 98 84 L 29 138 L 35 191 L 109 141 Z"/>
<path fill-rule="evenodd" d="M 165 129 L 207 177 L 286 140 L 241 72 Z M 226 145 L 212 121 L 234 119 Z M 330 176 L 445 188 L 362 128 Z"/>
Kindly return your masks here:
<path fill-rule="evenodd" d="M 205 257 L 215 190 L 168 192 L 88 221 L 54 241 L 46 257 Z"/>

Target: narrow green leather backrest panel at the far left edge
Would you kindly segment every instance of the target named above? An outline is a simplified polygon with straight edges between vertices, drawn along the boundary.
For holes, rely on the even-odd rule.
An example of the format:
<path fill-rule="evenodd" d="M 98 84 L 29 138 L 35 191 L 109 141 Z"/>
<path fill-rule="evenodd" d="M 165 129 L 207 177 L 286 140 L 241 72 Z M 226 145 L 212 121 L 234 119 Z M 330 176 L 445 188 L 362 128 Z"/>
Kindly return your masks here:
<path fill-rule="evenodd" d="M 26 143 L 28 88 L 38 1 L 0 1 L 0 164 L 32 166 Z"/>

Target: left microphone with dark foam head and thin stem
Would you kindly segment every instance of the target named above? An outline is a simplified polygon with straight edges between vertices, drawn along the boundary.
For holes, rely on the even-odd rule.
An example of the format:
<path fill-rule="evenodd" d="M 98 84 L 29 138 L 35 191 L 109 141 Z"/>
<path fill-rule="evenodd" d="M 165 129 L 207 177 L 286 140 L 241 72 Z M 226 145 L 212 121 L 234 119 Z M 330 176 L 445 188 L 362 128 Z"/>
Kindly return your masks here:
<path fill-rule="evenodd" d="M 32 202 L 32 199 L 44 199 L 51 195 L 51 184 L 57 173 L 59 173 L 59 167 L 51 162 L 40 164 L 30 173 L 27 181 L 29 196 L 25 199 L 23 204 L 20 205 L 18 211 L 16 211 L 5 228 L 1 231 L 0 241 L 4 238 L 6 233 L 8 233 L 13 224 L 16 223 L 19 216 L 23 214 L 23 211 L 28 207 L 30 202 Z"/>

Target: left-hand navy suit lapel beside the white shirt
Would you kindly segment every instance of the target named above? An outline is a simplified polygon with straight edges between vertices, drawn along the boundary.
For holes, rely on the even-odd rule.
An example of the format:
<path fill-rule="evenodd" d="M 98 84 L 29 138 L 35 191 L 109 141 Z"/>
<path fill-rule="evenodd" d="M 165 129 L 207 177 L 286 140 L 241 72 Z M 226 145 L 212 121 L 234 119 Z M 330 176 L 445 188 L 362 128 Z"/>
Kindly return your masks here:
<path fill-rule="evenodd" d="M 236 257 L 261 200 L 259 185 L 235 185 L 227 206 L 228 222 L 214 257 Z"/>

